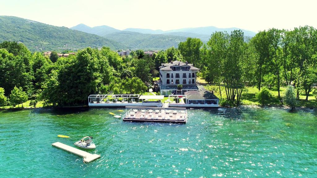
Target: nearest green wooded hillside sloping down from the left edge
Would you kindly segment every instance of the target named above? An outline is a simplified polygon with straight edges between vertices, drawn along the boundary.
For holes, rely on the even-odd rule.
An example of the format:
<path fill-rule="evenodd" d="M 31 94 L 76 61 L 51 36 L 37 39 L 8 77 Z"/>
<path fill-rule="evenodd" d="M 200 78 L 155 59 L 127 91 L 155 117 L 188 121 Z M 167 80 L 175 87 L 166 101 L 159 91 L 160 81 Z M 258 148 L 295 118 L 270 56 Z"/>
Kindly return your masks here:
<path fill-rule="evenodd" d="M 125 45 L 98 35 L 66 27 L 47 25 L 19 17 L 0 16 L 0 27 L 0 42 L 20 41 L 31 51 L 102 46 L 112 49 L 126 49 Z"/>

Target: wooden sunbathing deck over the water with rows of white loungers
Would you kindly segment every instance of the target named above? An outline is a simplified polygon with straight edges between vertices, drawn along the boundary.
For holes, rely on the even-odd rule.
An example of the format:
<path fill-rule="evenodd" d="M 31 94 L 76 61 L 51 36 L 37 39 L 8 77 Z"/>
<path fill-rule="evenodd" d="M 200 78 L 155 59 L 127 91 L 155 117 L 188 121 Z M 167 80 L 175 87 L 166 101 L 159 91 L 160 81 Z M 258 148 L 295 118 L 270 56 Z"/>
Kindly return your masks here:
<path fill-rule="evenodd" d="M 126 106 L 123 121 L 186 123 L 186 108 L 131 107 Z"/>

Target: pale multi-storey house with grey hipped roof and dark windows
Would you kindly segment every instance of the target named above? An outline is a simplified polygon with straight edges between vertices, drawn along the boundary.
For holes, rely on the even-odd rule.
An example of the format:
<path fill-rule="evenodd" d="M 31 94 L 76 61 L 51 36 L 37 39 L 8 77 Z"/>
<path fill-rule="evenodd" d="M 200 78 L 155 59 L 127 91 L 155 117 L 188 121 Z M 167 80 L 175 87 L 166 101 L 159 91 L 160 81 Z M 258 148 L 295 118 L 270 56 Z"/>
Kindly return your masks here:
<path fill-rule="evenodd" d="M 162 95 L 183 94 L 184 92 L 197 90 L 196 73 L 200 70 L 188 62 L 178 60 L 164 63 L 159 67 L 160 93 Z M 183 85 L 178 90 L 178 85 Z"/>

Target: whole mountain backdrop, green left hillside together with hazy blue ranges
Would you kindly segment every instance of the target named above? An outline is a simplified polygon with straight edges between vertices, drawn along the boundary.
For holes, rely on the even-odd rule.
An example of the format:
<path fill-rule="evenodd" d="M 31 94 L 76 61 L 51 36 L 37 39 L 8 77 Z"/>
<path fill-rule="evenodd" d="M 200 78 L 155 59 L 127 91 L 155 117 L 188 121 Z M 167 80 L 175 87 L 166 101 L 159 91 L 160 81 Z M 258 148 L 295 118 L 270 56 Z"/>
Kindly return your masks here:
<path fill-rule="evenodd" d="M 0 16 L 0 27 L 0 42 L 22 42 L 31 51 L 62 51 L 102 46 L 113 50 L 161 50 L 177 47 L 179 42 L 185 41 L 187 37 L 200 38 L 206 42 L 215 31 L 230 33 L 237 29 L 210 26 L 167 31 L 136 28 L 119 30 L 106 25 L 89 27 L 84 24 L 69 29 L 14 16 Z M 256 34 L 248 30 L 242 31 L 249 37 Z"/>

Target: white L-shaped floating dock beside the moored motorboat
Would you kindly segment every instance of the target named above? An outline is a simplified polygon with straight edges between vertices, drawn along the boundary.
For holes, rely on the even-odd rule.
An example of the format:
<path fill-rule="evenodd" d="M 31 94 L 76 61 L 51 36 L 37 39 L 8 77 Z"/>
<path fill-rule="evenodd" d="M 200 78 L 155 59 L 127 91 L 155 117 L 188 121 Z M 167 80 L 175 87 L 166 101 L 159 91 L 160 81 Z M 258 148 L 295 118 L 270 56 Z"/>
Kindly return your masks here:
<path fill-rule="evenodd" d="M 52 143 L 52 146 L 63 149 L 65 151 L 68 151 L 68 152 L 73 153 L 75 155 L 81 156 L 84 158 L 84 162 L 86 162 L 86 163 L 92 162 L 92 161 L 100 158 L 100 155 L 91 154 L 91 153 L 88 153 L 86 151 L 82 151 L 80 149 L 65 145 L 64 143 L 55 142 L 55 143 Z"/>

